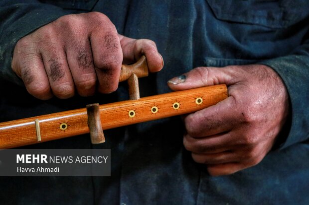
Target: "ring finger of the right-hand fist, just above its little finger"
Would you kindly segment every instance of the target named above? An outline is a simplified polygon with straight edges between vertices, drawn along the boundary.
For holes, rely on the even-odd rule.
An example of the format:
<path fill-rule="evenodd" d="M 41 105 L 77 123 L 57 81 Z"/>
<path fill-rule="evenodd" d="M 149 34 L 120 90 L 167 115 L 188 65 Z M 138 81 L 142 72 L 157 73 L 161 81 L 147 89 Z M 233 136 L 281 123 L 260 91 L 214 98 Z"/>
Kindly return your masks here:
<path fill-rule="evenodd" d="M 201 164 L 222 164 L 237 161 L 237 155 L 232 151 L 224 151 L 213 154 L 201 154 L 192 152 L 191 155 L 195 162 Z"/>

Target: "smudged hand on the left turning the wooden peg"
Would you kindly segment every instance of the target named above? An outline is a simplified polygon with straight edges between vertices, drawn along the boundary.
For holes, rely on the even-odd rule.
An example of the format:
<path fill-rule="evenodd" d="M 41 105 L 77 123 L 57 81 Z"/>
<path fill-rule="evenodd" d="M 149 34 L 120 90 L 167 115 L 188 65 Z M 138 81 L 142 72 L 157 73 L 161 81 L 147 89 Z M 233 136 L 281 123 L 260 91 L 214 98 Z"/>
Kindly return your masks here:
<path fill-rule="evenodd" d="M 142 55 L 151 72 L 163 67 L 155 43 L 119 35 L 99 12 L 65 15 L 20 39 L 14 49 L 13 71 L 33 96 L 89 96 L 117 89 L 122 63 Z"/>

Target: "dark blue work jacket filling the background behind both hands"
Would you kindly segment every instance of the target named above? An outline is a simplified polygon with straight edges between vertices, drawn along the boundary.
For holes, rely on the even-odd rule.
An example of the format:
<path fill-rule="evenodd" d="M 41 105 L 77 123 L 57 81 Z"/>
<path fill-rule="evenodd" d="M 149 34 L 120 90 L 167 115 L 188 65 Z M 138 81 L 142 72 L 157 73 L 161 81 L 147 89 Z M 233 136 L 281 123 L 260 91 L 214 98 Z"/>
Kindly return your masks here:
<path fill-rule="evenodd" d="M 284 80 L 290 121 L 258 165 L 211 177 L 182 145 L 179 117 L 28 146 L 111 148 L 111 177 L 2 177 L 0 203 L 121 205 L 309 204 L 308 0 L 0 0 L 0 121 L 128 99 L 117 92 L 40 101 L 10 69 L 21 37 L 58 17 L 100 11 L 118 32 L 156 42 L 164 69 L 141 79 L 141 96 L 169 92 L 166 81 L 194 67 L 265 64 Z M 61 31 L 59 31 L 61 32 Z"/>

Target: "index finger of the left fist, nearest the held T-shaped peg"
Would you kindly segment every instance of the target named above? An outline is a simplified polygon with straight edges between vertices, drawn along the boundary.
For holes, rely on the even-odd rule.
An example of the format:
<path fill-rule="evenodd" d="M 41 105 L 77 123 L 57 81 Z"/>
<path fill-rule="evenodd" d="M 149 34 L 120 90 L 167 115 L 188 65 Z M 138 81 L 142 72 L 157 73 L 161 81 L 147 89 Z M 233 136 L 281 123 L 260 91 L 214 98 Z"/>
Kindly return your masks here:
<path fill-rule="evenodd" d="M 90 34 L 94 66 L 98 77 L 98 90 L 110 93 L 117 89 L 123 54 L 115 26 L 109 19 L 101 19 Z"/>

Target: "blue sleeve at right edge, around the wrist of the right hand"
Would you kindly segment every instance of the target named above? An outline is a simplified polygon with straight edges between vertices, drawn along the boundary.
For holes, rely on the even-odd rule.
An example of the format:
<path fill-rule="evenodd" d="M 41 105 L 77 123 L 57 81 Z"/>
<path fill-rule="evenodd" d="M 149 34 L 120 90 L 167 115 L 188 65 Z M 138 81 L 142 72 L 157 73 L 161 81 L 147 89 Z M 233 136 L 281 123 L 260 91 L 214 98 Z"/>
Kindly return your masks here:
<path fill-rule="evenodd" d="M 291 109 L 290 128 L 280 148 L 305 141 L 309 138 L 309 37 L 291 55 L 260 62 L 273 68 L 283 79 Z M 285 130 L 285 129 L 284 129 Z"/>

